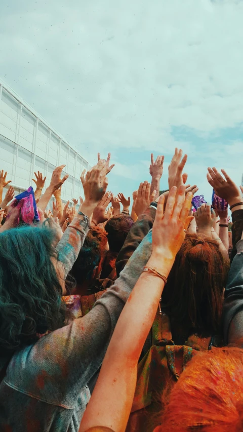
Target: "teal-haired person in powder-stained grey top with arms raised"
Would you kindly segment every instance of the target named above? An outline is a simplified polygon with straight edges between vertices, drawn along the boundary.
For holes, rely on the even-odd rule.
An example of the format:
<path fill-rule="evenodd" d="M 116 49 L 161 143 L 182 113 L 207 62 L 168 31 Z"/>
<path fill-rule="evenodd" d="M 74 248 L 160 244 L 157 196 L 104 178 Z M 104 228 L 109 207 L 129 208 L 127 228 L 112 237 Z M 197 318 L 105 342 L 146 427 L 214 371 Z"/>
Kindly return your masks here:
<path fill-rule="evenodd" d="M 7 229 L 21 203 L 0 229 L 1 432 L 78 431 L 90 399 L 87 382 L 102 364 L 136 272 L 134 263 L 85 317 L 66 325 L 65 279 L 107 188 L 107 173 L 100 160 L 86 178 L 82 174 L 85 201 L 57 245 L 45 224 Z"/>

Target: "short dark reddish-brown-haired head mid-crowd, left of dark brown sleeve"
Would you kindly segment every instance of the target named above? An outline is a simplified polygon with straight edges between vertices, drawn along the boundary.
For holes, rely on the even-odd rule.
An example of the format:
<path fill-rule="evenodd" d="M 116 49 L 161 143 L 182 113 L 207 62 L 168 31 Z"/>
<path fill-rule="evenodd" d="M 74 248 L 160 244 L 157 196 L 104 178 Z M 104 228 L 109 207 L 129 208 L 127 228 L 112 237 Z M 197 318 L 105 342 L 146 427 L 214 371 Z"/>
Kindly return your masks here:
<path fill-rule="evenodd" d="M 125 215 L 118 215 L 108 220 L 105 230 L 110 251 L 119 252 L 121 250 L 133 224 L 133 219 Z"/>

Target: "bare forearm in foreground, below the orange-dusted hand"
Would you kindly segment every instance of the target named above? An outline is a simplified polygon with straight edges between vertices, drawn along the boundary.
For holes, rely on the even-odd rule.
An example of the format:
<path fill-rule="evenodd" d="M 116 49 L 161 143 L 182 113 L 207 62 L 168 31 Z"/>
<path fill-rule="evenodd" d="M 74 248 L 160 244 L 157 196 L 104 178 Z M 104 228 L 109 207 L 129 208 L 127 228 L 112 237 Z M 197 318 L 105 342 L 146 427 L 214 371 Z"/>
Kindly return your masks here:
<path fill-rule="evenodd" d="M 169 272 L 163 268 L 163 258 L 152 255 L 147 265 L 157 267 L 158 262 L 167 277 Z M 164 285 L 156 276 L 141 274 L 115 327 L 79 432 L 97 425 L 111 427 L 115 432 L 125 431 L 133 403 L 137 363 Z M 104 392 L 105 388 L 109 391 Z M 111 404 L 115 415 L 110 415 Z"/>

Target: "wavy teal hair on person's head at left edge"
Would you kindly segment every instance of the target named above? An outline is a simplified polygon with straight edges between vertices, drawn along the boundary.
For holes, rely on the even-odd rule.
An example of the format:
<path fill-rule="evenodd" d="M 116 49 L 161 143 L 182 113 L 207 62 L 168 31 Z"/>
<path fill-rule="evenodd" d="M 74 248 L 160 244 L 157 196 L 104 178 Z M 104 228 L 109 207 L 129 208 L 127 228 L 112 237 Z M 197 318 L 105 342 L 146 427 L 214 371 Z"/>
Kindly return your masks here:
<path fill-rule="evenodd" d="M 0 232 L 0 352 L 37 340 L 64 325 L 66 306 L 51 258 L 57 259 L 49 228 Z"/>

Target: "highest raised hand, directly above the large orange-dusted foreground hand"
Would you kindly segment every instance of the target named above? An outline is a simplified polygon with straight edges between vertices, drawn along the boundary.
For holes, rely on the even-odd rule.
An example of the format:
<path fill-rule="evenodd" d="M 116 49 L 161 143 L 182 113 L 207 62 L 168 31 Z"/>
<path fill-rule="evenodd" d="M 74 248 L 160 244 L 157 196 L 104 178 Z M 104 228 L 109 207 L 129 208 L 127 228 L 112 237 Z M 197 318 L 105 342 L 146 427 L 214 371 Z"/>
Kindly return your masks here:
<path fill-rule="evenodd" d="M 187 174 L 182 174 L 183 168 L 187 161 L 187 154 L 185 154 L 182 158 L 182 150 L 178 150 L 178 148 L 175 149 L 175 154 L 171 160 L 171 163 L 169 165 L 168 171 L 169 171 L 169 189 L 172 188 L 172 186 L 176 186 L 179 188 L 180 186 L 184 185 L 187 180 Z"/>

